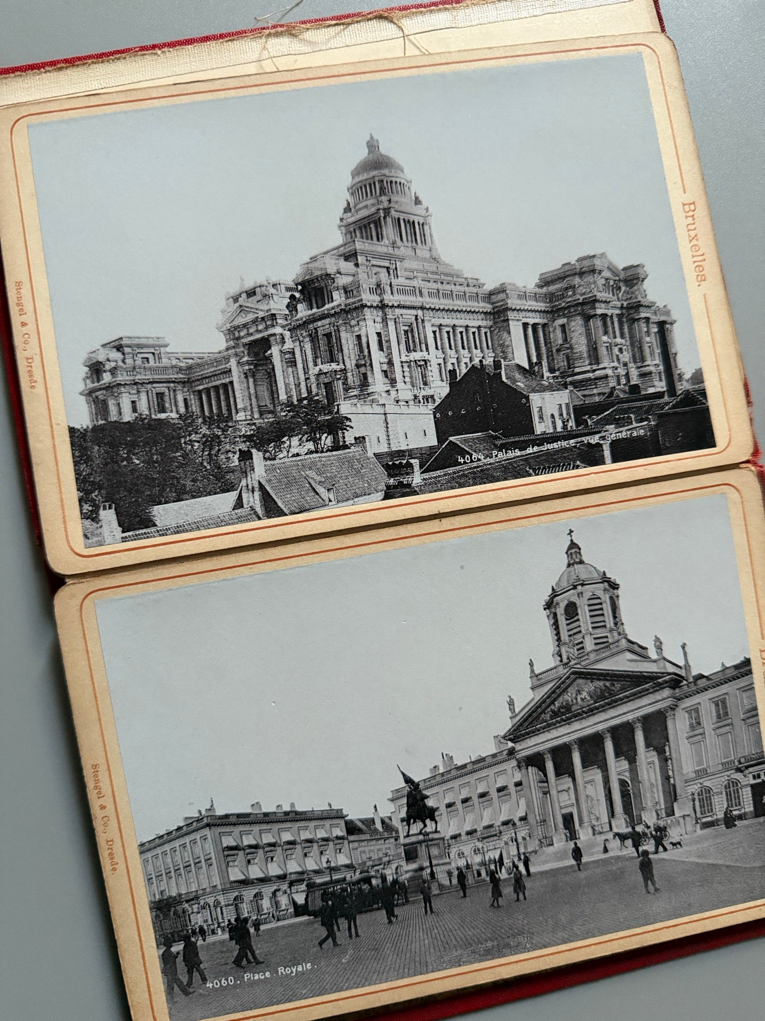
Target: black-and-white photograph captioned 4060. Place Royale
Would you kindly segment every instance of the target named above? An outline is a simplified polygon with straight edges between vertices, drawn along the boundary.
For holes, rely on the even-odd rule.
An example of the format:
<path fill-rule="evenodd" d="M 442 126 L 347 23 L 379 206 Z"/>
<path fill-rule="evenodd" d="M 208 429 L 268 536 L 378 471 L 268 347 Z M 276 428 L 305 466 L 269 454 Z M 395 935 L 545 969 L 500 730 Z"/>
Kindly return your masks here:
<path fill-rule="evenodd" d="M 96 617 L 172 1019 L 763 897 L 724 495 L 99 598 Z"/>

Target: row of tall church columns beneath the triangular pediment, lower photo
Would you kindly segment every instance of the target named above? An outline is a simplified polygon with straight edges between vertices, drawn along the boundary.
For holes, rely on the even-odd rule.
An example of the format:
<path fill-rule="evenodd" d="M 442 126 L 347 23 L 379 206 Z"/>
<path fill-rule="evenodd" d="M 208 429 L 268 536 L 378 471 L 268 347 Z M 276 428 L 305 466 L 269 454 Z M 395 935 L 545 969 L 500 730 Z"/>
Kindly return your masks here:
<path fill-rule="evenodd" d="M 685 797 L 685 782 L 682 774 L 682 760 L 680 758 L 680 746 L 677 735 L 677 722 L 675 719 L 675 709 L 672 706 L 664 707 L 661 712 L 664 714 L 666 719 L 666 732 L 667 732 L 667 745 L 669 748 L 668 762 L 665 759 L 664 748 L 655 749 L 659 758 L 660 770 L 663 763 L 666 762 L 667 766 L 671 767 L 672 776 L 671 779 L 674 784 L 674 800 L 677 801 L 680 798 Z M 630 783 L 630 789 L 632 791 L 633 798 L 633 809 L 635 816 L 638 817 L 635 821 L 640 821 L 640 815 L 648 821 L 653 821 L 661 814 L 662 810 L 670 814 L 670 807 L 666 804 L 668 798 L 666 795 L 662 796 L 661 790 L 661 777 L 657 778 L 657 785 L 655 786 L 651 782 L 651 776 L 649 772 L 648 764 L 648 749 L 646 744 L 646 733 L 644 725 L 645 717 L 635 717 L 629 721 L 629 726 L 632 731 L 632 738 L 634 741 L 634 762 L 628 761 L 630 767 L 630 779 L 632 777 L 632 768 L 636 772 L 636 786 L 635 790 L 634 783 Z M 624 804 L 622 798 L 622 791 L 620 786 L 620 777 L 617 768 L 617 756 L 616 749 L 614 747 L 614 735 L 613 727 L 604 727 L 593 733 L 581 735 L 577 738 L 571 738 L 566 741 L 568 750 L 571 759 L 571 766 L 573 772 L 573 782 L 574 789 L 576 792 L 575 804 L 579 820 L 579 828 L 581 834 L 592 834 L 593 824 L 595 820 L 592 818 L 590 805 L 588 803 L 588 793 L 584 783 L 584 769 L 581 761 L 581 742 L 583 740 L 592 741 L 593 738 L 600 737 L 603 741 L 603 758 L 606 763 L 606 772 L 608 778 L 608 789 L 611 794 L 611 819 L 610 828 L 611 829 L 624 829 L 627 827 L 627 815 L 624 811 Z M 552 835 L 553 842 L 559 843 L 566 839 L 566 831 L 563 825 L 563 814 L 561 811 L 560 796 L 558 792 L 558 775 L 556 774 L 555 762 L 553 753 L 560 744 L 551 745 L 550 747 L 536 750 L 533 758 L 542 757 L 544 768 L 536 767 L 540 769 L 543 773 L 544 778 L 547 780 L 548 794 L 550 798 L 550 814 L 552 816 L 552 823 L 554 832 Z M 534 791 L 531 783 L 531 776 L 529 773 L 529 767 L 532 764 L 529 763 L 528 759 L 521 757 L 518 758 L 518 767 L 521 775 L 521 785 L 523 790 L 523 795 L 526 804 L 526 817 L 528 820 L 528 828 L 531 837 L 537 838 L 542 836 L 542 830 L 545 826 L 545 822 L 538 815 L 537 804 L 534 798 Z M 604 785 L 605 786 L 605 785 Z M 638 795 L 638 796 L 635 796 Z M 673 807 L 672 807 L 673 811 Z M 547 835 L 547 834 L 546 834 Z"/>

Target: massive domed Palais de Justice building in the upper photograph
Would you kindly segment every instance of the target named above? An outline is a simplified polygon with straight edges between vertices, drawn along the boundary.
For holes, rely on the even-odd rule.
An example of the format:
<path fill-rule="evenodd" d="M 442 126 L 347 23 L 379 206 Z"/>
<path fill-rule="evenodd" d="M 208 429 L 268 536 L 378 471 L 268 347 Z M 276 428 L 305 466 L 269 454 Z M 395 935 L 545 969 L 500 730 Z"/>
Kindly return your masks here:
<path fill-rule="evenodd" d="M 544 382 L 536 391 L 550 395 L 548 431 L 565 428 L 556 418 L 565 390 L 600 400 L 620 388 L 673 396 L 682 386 L 673 320 L 648 297 L 645 266 L 586 255 L 533 288 L 489 289 L 442 257 L 429 208 L 374 138 L 351 172 L 339 228 L 340 244 L 293 281 L 226 296 L 222 350 L 118 337 L 90 352 L 82 393 L 91 423 L 185 414 L 253 422 L 311 394 L 338 405 L 353 438 L 379 453 L 434 446 L 435 405 L 474 366 L 503 362 Z"/>

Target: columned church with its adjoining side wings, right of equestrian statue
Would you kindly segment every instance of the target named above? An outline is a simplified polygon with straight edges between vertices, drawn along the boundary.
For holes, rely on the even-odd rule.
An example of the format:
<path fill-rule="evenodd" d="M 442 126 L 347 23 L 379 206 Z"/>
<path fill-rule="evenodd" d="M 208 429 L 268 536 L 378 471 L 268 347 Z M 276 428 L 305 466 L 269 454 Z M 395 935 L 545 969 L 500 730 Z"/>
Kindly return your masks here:
<path fill-rule="evenodd" d="M 694 673 L 659 637 L 634 641 L 619 583 L 584 561 L 569 532 L 566 565 L 544 612 L 553 666 L 529 661 L 531 698 L 495 750 L 420 781 L 452 863 L 476 866 L 578 839 L 600 850 L 633 823 L 681 834 L 719 825 L 725 809 L 765 816 L 765 756 L 748 659 Z M 392 792 L 403 826 L 406 788 Z M 402 836 L 404 830 L 402 829 Z"/>

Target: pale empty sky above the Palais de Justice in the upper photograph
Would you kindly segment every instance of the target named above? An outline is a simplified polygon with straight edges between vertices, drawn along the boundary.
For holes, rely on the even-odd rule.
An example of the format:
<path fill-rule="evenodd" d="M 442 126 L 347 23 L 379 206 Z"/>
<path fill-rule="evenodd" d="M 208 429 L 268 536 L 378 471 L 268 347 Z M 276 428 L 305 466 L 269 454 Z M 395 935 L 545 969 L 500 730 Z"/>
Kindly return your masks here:
<path fill-rule="evenodd" d="M 699 366 L 639 55 L 354 82 L 33 125 L 35 185 L 71 424 L 85 354 L 120 334 L 216 350 L 224 295 L 340 240 L 373 133 L 489 285 L 605 251 L 645 262 L 681 367 Z"/>

